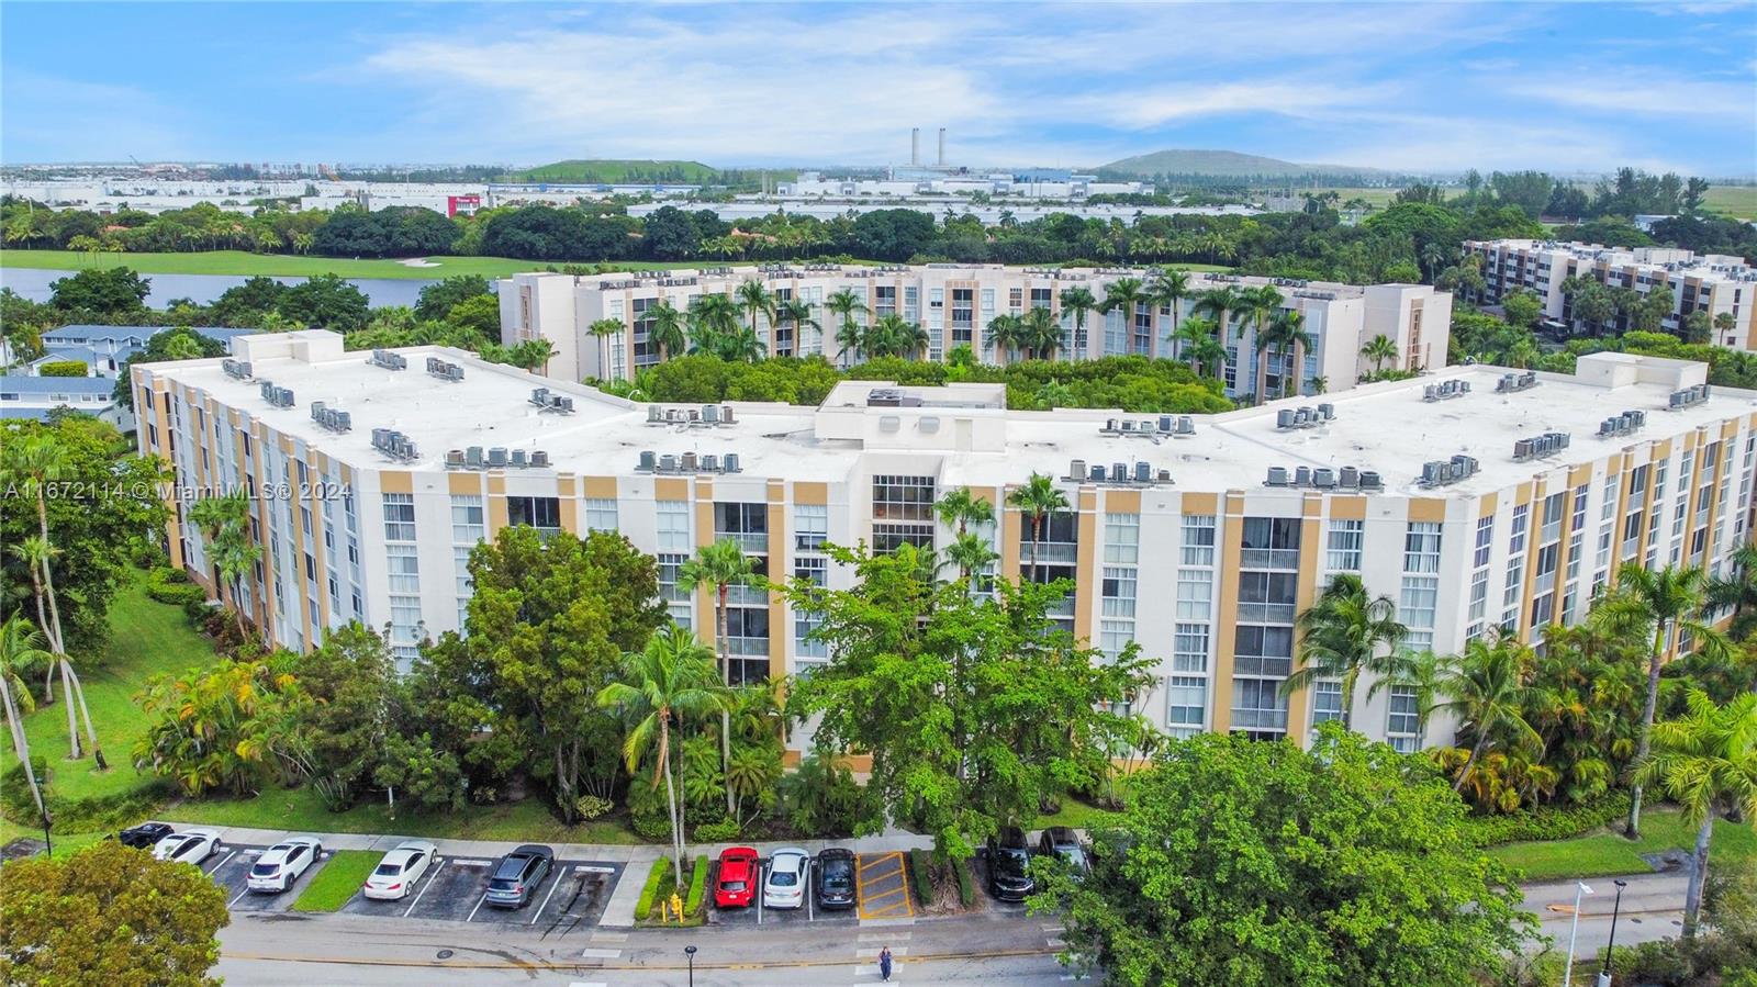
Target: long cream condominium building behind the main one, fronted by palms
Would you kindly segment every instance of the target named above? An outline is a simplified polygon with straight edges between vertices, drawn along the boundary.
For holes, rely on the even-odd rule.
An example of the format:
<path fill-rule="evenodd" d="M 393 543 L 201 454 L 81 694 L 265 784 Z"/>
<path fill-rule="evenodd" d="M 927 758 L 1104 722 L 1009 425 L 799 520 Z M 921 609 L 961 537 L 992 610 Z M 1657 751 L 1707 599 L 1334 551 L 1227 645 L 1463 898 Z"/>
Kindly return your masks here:
<path fill-rule="evenodd" d="M 1256 288 L 1274 285 L 1284 309 L 1305 316 L 1305 332 L 1316 346 L 1311 353 L 1260 353 L 1256 327 L 1247 320 L 1242 334 L 1228 334 L 1225 381 L 1228 395 L 1281 395 L 1284 376 L 1297 378 L 1298 390 L 1351 386 L 1374 364 L 1360 349 L 1374 335 L 1388 337 L 1397 357 L 1388 367 L 1432 369 L 1446 364 L 1451 334 L 1451 295 L 1425 285 L 1332 285 L 1318 281 L 1242 277 L 1237 274 L 1191 274 L 1189 292 L 1172 306 L 1137 302 L 1133 313 L 1119 307 L 1088 313 L 1079 325 L 1061 293 L 1086 288 L 1098 300 L 1105 288 L 1123 279 L 1151 285 L 1151 269 L 1031 269 L 1000 263 L 926 263 L 914 267 L 861 267 L 840 263 L 715 267 L 701 270 L 645 270 L 624 274 L 515 274 L 499 283 L 501 339 L 548 339 L 555 358 L 548 372 L 560 379 L 622 379 L 633 371 L 652 367 L 664 355 L 654 344 L 647 313 L 668 302 L 687 309 L 703 295 L 731 295 L 747 281 L 761 281 L 778 300 L 803 300 L 812 306 L 817 327 L 770 323 L 759 316 L 757 330 L 773 357 L 824 355 L 847 364 L 835 334 L 840 316 L 824 307 L 838 292 L 852 292 L 866 306 L 857 321 L 866 325 L 884 316 L 901 316 L 928 330 L 929 360 L 944 360 L 956 346 L 972 346 L 979 358 L 1005 360 L 986 342 L 987 325 L 1001 314 L 1021 314 L 1030 307 L 1047 307 L 1061 323 L 1061 357 L 1091 360 L 1098 357 L 1140 353 L 1177 357 L 1172 328 L 1189 318 L 1195 295 L 1211 288 Z M 1233 313 L 1242 314 L 1242 313 Z M 620 320 L 620 334 L 594 335 L 599 320 Z"/>

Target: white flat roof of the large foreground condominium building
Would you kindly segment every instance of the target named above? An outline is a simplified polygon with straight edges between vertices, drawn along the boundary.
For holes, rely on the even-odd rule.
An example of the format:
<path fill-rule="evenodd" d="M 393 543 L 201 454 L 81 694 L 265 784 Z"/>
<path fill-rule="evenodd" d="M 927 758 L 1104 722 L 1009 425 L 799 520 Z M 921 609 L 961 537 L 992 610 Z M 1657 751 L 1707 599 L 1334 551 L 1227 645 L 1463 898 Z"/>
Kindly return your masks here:
<path fill-rule="evenodd" d="M 815 407 L 734 402 L 736 423 L 719 427 L 650 425 L 647 407 L 603 395 L 597 390 L 485 364 L 457 349 L 422 346 L 399 349 L 409 369 L 388 371 L 369 362 L 369 353 L 316 358 L 258 358 L 255 379 L 232 378 L 220 360 L 153 364 L 155 376 L 206 390 L 221 404 L 248 411 L 271 429 L 300 437 L 341 462 L 365 469 L 443 471 L 448 450 L 504 446 L 545 450 L 552 469 L 585 476 L 634 476 L 641 450 L 676 455 L 683 451 L 738 453 L 745 476 L 838 481 L 856 472 L 863 455 L 882 457 L 893 472 L 898 457 L 921 455 L 922 472 L 938 472 L 945 485 L 1000 486 L 1030 472 L 1056 478 L 1068 474 L 1072 460 L 1091 465 L 1146 460 L 1154 471 L 1172 471 L 1181 490 L 1249 490 L 1263 485 L 1272 465 L 1377 471 L 1386 494 L 1474 495 L 1500 490 L 1558 467 L 1592 462 L 1625 446 L 1688 432 L 1699 425 L 1757 413 L 1757 392 L 1715 388 L 1708 400 L 1667 411 L 1678 386 L 1703 379 L 1701 364 L 1609 355 L 1583 358 L 1581 376 L 1537 374 L 1539 385 L 1495 393 L 1499 367 L 1448 367 L 1411 381 L 1369 385 L 1325 397 L 1272 402 L 1225 414 L 1197 414 L 1189 437 L 1103 436 L 1107 418 L 1158 420 L 1156 413 L 1093 409 L 1001 411 L 980 407 L 987 397 L 980 385 L 965 385 L 954 400 L 931 404 L 935 388 L 903 388 L 929 395 L 926 407 L 859 407 L 861 388 L 894 386 L 884 381 L 840 385 L 821 413 Z M 464 379 L 448 383 L 425 372 L 427 357 L 464 365 Z M 1595 374 L 1595 376 L 1594 376 Z M 260 395 L 258 381 L 272 379 L 293 390 L 293 407 L 274 407 Z M 1446 379 L 1469 381 L 1467 395 L 1425 402 L 1423 386 Z M 575 399 L 573 414 L 539 413 L 529 404 L 534 388 Z M 993 386 L 993 385 L 991 385 Z M 975 400 L 970 400 L 975 399 Z M 311 402 L 350 411 L 353 430 L 336 434 L 311 420 Z M 1276 413 L 1283 407 L 1328 402 L 1335 418 L 1320 429 L 1283 432 Z M 852 407 L 850 407 L 852 406 Z M 668 406 L 689 407 L 689 406 Z M 699 406 L 698 406 L 699 407 Z M 1630 409 L 1648 413 L 1646 427 L 1616 439 L 1595 434 L 1604 418 Z M 866 432 L 880 441 L 863 441 L 849 429 L 849 416 L 871 420 Z M 936 416 L 947 421 L 929 439 L 912 439 L 912 425 L 878 432 L 878 418 Z M 822 420 L 821 420 L 822 416 Z M 831 416 L 838 425 L 831 427 Z M 951 420 L 972 418 L 977 429 L 968 451 L 952 446 Z M 821 437 L 838 434 L 850 437 Z M 938 429 L 938 421 L 935 421 Z M 397 462 L 371 444 L 372 429 L 395 429 L 418 450 L 415 462 Z M 928 429 L 921 429 L 928 432 Z M 1516 439 L 1544 432 L 1571 434 L 1571 448 L 1539 462 L 1513 462 Z M 938 441 L 944 439 L 944 441 Z M 1476 457 L 1479 472 L 1462 483 L 1423 490 L 1414 479 L 1421 464 L 1464 453 Z M 931 464 L 944 465 L 938 469 Z M 513 471 L 541 472 L 541 471 Z"/>

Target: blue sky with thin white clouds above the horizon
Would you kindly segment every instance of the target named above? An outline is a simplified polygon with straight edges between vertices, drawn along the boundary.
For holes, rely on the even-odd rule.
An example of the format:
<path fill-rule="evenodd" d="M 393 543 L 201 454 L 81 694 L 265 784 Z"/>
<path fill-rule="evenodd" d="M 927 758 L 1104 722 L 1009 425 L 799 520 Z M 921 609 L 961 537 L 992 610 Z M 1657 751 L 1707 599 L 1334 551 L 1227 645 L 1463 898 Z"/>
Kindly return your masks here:
<path fill-rule="evenodd" d="M 1757 4 L 0 4 L 0 160 L 1757 172 Z"/>

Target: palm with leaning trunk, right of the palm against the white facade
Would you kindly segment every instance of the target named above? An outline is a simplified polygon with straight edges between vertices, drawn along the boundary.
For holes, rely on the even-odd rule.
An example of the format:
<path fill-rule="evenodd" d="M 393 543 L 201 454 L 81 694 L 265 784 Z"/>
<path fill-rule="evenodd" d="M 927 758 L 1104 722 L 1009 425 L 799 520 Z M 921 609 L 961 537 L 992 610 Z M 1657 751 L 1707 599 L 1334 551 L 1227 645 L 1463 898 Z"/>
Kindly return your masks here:
<path fill-rule="evenodd" d="M 1457 713 L 1460 732 L 1476 736 L 1471 757 L 1458 771 L 1453 792 L 1462 792 L 1471 771 L 1492 743 L 1506 738 L 1509 746 L 1543 750 L 1543 738 L 1525 720 L 1536 694 L 1527 685 L 1532 650 L 1513 636 L 1478 638 L 1464 646 L 1464 655 L 1439 674 L 1437 690 L 1446 697 L 1434 710 Z"/>

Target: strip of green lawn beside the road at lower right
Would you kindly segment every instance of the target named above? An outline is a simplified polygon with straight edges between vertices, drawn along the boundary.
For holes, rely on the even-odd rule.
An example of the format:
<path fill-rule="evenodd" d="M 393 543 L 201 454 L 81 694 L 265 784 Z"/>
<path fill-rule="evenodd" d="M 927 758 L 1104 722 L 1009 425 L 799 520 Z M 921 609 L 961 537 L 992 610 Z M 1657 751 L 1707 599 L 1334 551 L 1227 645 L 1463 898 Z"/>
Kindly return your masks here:
<path fill-rule="evenodd" d="M 1620 827 L 1620 822 L 1616 824 Z M 1683 822 L 1678 810 L 1662 806 L 1641 815 L 1641 839 L 1630 843 L 1622 832 L 1597 829 L 1573 839 L 1506 843 L 1488 854 L 1525 873 L 1523 880 L 1597 878 L 1650 871 L 1641 854 L 1696 847 L 1696 827 Z M 1750 824 L 1715 822 L 1710 843 L 1710 868 L 1757 868 L 1757 831 Z"/>

